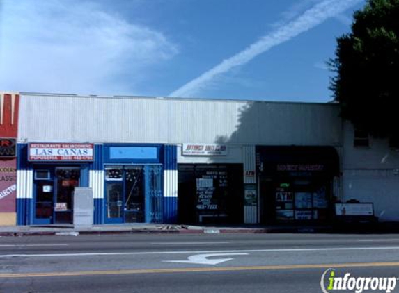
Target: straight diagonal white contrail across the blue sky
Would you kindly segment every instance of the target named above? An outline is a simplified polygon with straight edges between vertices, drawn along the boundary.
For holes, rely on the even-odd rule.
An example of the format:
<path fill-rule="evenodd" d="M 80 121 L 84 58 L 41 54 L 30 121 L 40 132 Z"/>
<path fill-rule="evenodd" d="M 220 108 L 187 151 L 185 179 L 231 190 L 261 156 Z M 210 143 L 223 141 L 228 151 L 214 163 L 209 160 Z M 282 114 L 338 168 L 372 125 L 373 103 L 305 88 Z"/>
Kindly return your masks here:
<path fill-rule="evenodd" d="M 338 15 L 363 1 L 364 0 L 324 0 L 306 10 L 296 19 L 276 28 L 268 35 L 260 37 L 260 40 L 249 45 L 249 47 L 242 50 L 240 53 L 223 60 L 212 69 L 201 74 L 201 76 L 194 78 L 192 81 L 189 81 L 182 87 L 178 88 L 178 90 L 171 92 L 169 97 L 192 97 L 196 92 L 199 92 L 201 89 L 206 87 L 207 83 L 212 81 L 213 78 L 220 74 L 230 71 L 233 67 L 246 64 L 272 47 L 291 40 L 292 37 L 296 37 L 300 33 L 304 33 L 305 31 L 318 26 L 318 24 L 321 24 L 326 19 L 334 17 L 335 15 Z"/>

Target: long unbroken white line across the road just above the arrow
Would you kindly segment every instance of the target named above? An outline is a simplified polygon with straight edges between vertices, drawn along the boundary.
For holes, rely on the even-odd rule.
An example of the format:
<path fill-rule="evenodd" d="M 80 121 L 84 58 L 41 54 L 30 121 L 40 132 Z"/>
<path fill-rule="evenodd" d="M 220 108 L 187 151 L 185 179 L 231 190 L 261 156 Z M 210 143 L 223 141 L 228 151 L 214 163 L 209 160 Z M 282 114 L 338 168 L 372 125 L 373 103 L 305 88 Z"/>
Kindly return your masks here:
<path fill-rule="evenodd" d="M 297 251 L 352 251 L 352 250 L 399 250 L 399 246 L 387 247 L 324 247 L 318 249 L 242 249 L 221 251 L 145 251 L 145 252 L 99 252 L 99 253 L 49 253 L 49 254 L 3 254 L 0 258 L 44 258 L 62 256 L 141 256 L 154 254 L 196 254 L 196 253 L 251 253 L 251 252 L 297 252 Z"/>

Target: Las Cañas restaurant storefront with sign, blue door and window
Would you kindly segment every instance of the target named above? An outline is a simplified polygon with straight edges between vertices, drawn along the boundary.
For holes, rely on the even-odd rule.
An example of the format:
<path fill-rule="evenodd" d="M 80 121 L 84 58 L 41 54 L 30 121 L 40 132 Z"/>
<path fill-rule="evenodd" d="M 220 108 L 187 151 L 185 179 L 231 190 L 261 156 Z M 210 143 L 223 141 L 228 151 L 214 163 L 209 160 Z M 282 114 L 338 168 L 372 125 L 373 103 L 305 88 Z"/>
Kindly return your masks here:
<path fill-rule="evenodd" d="M 31 143 L 20 151 L 19 173 L 31 190 L 18 201 L 19 224 L 72 224 L 74 190 L 88 187 L 94 145 Z"/>

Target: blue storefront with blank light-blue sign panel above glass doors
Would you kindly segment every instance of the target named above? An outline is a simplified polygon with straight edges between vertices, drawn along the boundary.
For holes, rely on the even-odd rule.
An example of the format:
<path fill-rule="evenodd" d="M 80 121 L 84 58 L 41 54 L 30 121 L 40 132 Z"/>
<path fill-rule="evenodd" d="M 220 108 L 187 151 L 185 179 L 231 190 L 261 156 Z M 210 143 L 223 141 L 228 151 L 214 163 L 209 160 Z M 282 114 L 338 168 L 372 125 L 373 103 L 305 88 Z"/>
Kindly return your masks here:
<path fill-rule="evenodd" d="M 105 223 L 162 223 L 162 145 L 104 145 Z"/>

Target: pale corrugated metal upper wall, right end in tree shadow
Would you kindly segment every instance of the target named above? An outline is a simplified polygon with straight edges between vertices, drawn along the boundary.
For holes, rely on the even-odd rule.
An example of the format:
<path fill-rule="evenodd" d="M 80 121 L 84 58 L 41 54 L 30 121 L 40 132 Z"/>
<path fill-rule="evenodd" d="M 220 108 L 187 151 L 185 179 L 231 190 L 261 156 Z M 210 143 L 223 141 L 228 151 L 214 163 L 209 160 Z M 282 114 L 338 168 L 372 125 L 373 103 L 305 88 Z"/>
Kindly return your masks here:
<path fill-rule="evenodd" d="M 338 145 L 334 104 L 22 94 L 19 141 Z"/>

